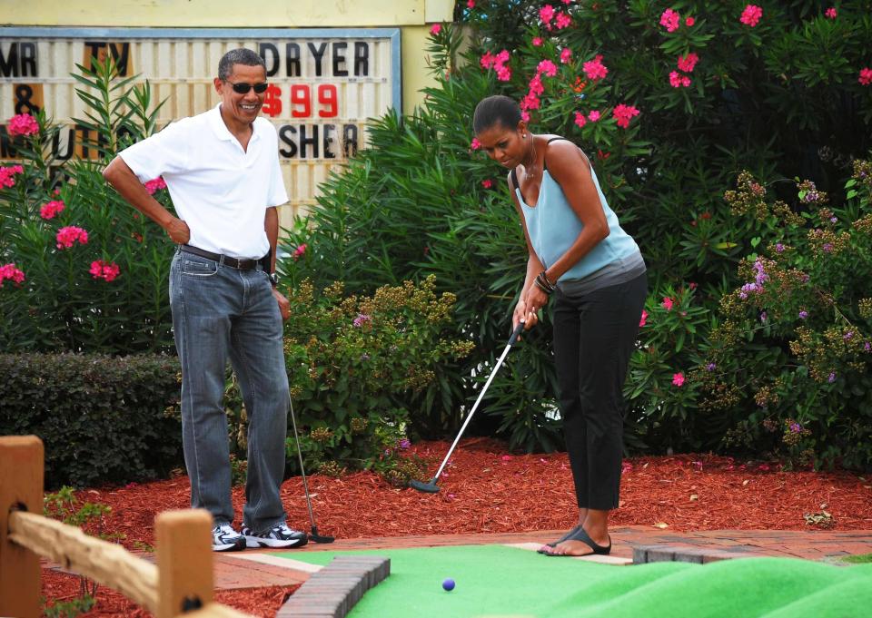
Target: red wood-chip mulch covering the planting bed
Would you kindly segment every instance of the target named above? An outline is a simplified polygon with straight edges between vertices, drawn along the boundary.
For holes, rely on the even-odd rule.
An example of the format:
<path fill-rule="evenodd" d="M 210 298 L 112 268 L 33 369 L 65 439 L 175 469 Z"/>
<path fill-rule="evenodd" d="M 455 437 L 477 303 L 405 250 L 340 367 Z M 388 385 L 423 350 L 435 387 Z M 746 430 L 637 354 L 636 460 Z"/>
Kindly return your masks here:
<path fill-rule="evenodd" d="M 441 463 L 450 444 L 422 442 L 411 452 Z M 513 456 L 489 438 L 471 438 L 451 457 L 441 492 L 397 489 L 368 472 L 309 479 L 319 532 L 338 538 L 522 532 L 568 528 L 577 517 L 565 453 Z M 185 476 L 125 487 L 83 490 L 82 501 L 112 507 L 104 530 L 121 533 L 128 549 L 154 544 L 154 516 L 187 508 Z M 695 495 L 697 497 L 692 498 Z M 803 515 L 826 510 L 838 530 L 872 528 L 872 478 L 847 471 L 785 471 L 777 463 L 711 455 L 649 456 L 625 462 L 621 504 L 612 525 L 667 524 L 677 532 L 722 529 L 807 529 Z M 237 514 L 244 490 L 233 491 Z M 308 530 L 302 479 L 282 485 L 289 525 Z M 44 571 L 47 599 L 70 599 L 78 580 Z M 216 599 L 244 612 L 272 616 L 292 587 L 223 591 Z M 150 614 L 119 593 L 98 590 L 87 616 Z"/>

